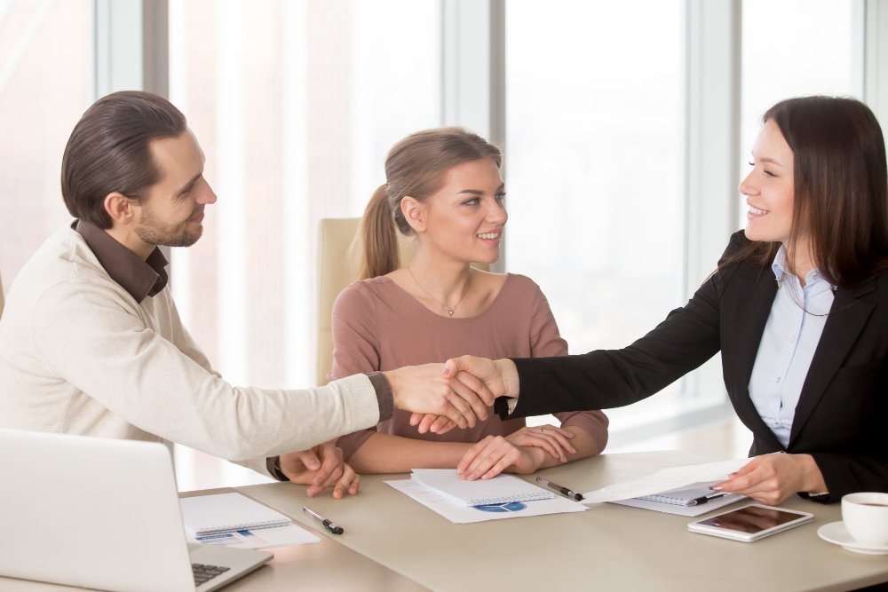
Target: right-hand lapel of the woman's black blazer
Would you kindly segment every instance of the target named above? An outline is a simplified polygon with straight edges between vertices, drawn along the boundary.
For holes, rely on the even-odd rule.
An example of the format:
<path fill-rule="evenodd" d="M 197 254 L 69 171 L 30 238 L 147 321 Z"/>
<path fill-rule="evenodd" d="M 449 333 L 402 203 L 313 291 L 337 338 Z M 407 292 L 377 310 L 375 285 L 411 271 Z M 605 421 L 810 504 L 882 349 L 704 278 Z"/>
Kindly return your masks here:
<path fill-rule="evenodd" d="M 811 367 L 808 369 L 805 384 L 802 385 L 802 392 L 798 398 L 792 431 L 789 434 L 789 446 L 792 446 L 805 422 L 811 417 L 836 371 L 857 342 L 860 331 L 867 324 L 876 304 L 860 298 L 875 288 L 876 282 L 871 281 L 860 288 L 836 290 L 836 299 L 833 301 L 829 319 L 823 327 L 821 340 L 817 343 Z"/>

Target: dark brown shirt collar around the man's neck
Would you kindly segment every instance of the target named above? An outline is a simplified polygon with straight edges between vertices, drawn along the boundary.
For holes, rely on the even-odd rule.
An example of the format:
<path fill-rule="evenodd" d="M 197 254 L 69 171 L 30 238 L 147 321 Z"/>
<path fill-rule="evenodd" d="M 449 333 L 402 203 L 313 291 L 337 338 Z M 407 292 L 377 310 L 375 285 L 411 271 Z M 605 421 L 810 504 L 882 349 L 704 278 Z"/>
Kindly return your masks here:
<path fill-rule="evenodd" d="M 164 269 L 167 260 L 161 249 L 155 247 L 147 261 L 142 261 L 130 249 L 91 222 L 75 220 L 71 227 L 83 236 L 83 240 L 111 279 L 129 292 L 139 304 L 146 296 L 155 296 L 166 287 L 170 278 Z"/>

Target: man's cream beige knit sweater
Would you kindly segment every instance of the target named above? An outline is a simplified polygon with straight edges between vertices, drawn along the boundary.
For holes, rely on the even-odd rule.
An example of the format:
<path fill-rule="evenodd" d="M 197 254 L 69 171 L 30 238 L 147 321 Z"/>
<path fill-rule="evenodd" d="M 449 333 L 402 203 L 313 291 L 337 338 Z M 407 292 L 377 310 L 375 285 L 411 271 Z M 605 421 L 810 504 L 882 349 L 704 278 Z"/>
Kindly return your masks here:
<path fill-rule="evenodd" d="M 297 391 L 226 383 L 169 286 L 137 303 L 71 228 L 21 270 L 0 318 L 0 427 L 165 439 L 266 473 L 266 456 L 378 419 L 364 375 Z"/>

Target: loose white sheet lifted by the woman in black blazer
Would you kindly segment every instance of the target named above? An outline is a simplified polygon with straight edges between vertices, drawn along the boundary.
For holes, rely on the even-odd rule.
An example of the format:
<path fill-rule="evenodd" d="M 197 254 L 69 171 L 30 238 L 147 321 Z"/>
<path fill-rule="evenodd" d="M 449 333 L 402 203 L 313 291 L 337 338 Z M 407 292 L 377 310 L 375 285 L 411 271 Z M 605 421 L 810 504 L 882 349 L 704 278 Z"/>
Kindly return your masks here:
<path fill-rule="evenodd" d="M 607 485 L 602 489 L 583 493 L 583 503 L 628 500 L 639 495 L 652 495 L 704 481 L 724 481 L 728 473 L 733 473 L 749 462 L 748 458 L 733 461 L 705 462 L 684 467 L 670 467 L 658 470 L 646 477 Z"/>

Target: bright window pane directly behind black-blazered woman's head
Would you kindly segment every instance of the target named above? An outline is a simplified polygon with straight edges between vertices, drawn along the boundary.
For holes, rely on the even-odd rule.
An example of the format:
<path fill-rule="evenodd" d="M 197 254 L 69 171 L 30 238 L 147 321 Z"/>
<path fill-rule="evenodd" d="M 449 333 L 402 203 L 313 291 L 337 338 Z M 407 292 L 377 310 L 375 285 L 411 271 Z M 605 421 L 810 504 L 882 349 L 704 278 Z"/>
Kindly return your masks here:
<path fill-rule="evenodd" d="M 741 178 L 762 115 L 781 99 L 804 95 L 861 98 L 854 0 L 744 0 Z M 856 38 L 862 31 L 856 31 Z M 746 202 L 740 198 L 746 225 Z"/>

